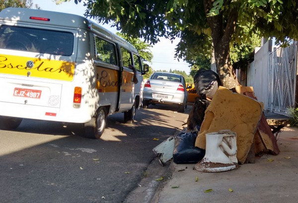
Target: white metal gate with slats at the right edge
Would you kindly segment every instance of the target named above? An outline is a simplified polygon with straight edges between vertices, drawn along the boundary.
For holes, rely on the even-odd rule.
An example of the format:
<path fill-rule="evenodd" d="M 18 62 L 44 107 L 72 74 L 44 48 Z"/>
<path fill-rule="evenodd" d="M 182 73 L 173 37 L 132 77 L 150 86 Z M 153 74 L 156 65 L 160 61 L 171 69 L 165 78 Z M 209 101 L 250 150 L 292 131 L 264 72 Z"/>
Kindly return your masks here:
<path fill-rule="evenodd" d="M 279 114 L 289 114 L 294 107 L 297 69 L 297 41 L 286 48 L 269 54 L 268 109 Z"/>

